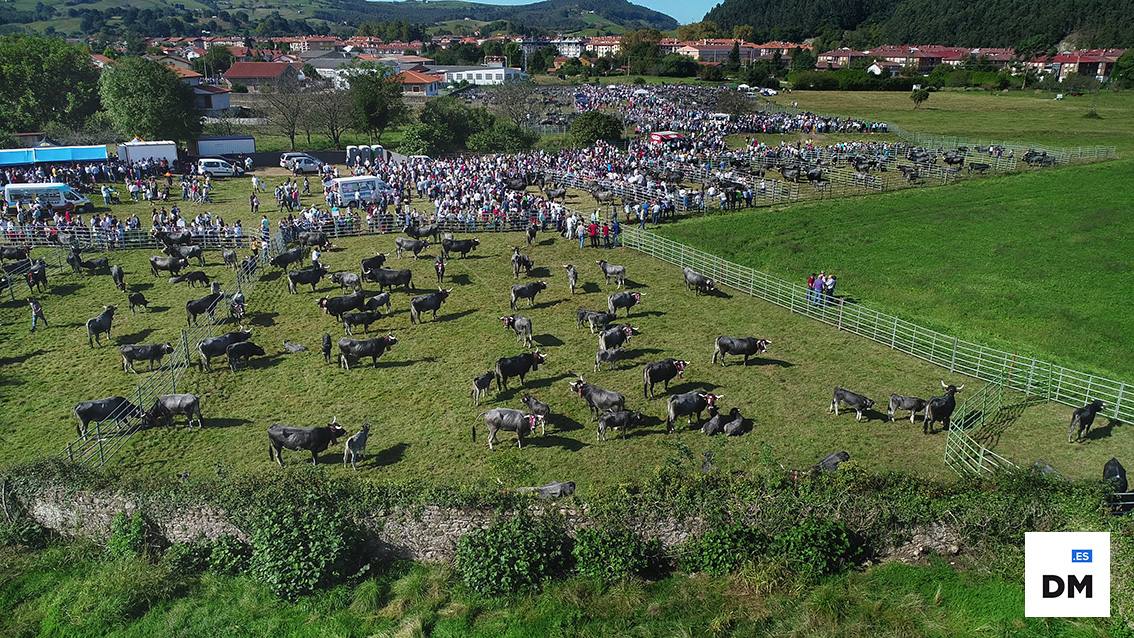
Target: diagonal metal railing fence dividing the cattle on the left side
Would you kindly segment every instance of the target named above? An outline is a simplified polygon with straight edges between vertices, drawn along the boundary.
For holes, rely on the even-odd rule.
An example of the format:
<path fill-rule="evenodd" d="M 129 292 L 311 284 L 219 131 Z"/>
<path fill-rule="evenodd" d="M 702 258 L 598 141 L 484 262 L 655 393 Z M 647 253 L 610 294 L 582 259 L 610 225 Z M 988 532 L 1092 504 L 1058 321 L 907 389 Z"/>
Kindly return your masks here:
<path fill-rule="evenodd" d="M 281 243 L 277 237 L 264 245 L 259 261 L 243 262 L 236 269 L 234 284 L 246 296 L 255 287 L 259 277 L 256 272 L 265 266 L 274 255 L 279 254 Z M 194 348 L 202 340 L 213 337 L 226 322 L 228 304 L 222 297 L 212 307 L 211 313 L 198 317 L 195 325 L 181 330 L 177 343 L 172 343 L 174 352 L 166 363 L 154 372 L 145 374 L 138 382 L 132 395 L 124 397 L 139 410 L 147 410 L 158 397 L 178 392 L 178 384 L 186 371 L 193 365 Z M 132 414 L 128 406 L 122 406 L 101 422 L 91 424 L 86 436 L 82 433 L 67 443 L 65 457 L 75 463 L 102 466 L 118 453 L 126 442 L 137 432 L 146 427 L 139 415 Z"/>

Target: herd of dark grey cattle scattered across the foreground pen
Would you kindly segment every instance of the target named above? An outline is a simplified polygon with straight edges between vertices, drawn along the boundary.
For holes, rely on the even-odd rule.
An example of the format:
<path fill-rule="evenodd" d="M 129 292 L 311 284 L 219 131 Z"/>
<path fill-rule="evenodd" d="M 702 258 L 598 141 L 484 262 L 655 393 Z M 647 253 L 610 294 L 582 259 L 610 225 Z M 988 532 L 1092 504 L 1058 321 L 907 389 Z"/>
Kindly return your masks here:
<path fill-rule="evenodd" d="M 434 264 L 438 275 L 438 290 L 424 295 L 416 295 L 408 300 L 411 324 L 423 321 L 435 320 L 438 312 L 446 300 L 454 294 L 455 288 L 441 288 L 445 278 L 446 262 L 452 254 L 462 257 L 475 250 L 480 241 L 477 239 L 454 239 L 445 235 L 441 236 L 437 227 L 406 228 L 406 237 L 398 237 L 395 240 L 396 253 L 412 255 L 416 260 L 422 250 L 429 246 L 432 239 L 440 245 L 441 252 Z M 220 290 L 215 281 L 211 281 L 204 272 L 181 273 L 187 267 L 189 258 L 196 258 L 198 265 L 204 264 L 203 250 L 198 246 L 188 243 L 187 233 L 161 233 L 159 239 L 163 244 L 163 255 L 150 257 L 149 263 L 151 274 L 156 277 L 159 272 L 170 273 L 170 283 L 176 284 L 187 282 L 191 287 L 195 283 L 204 286 L 211 284 L 209 295 L 191 299 L 186 303 L 186 322 L 194 324 L 200 316 L 213 316 L 217 307 L 227 296 Z M 338 286 L 342 295 L 332 297 L 320 297 L 316 306 L 325 315 L 333 318 L 344 329 L 345 337 L 332 341 L 330 334 L 324 334 L 322 340 L 322 354 L 324 360 L 330 364 L 333 347 L 338 347 L 337 363 L 344 369 L 349 371 L 359 360 L 369 358 L 371 365 L 376 367 L 378 360 L 386 352 L 390 351 L 398 343 L 398 339 L 392 334 L 379 335 L 369 339 L 355 339 L 354 331 L 362 327 L 369 332 L 372 324 L 390 315 L 391 291 L 401 289 L 406 292 L 413 291 L 413 272 L 411 270 L 387 269 L 388 255 L 378 253 L 365 257 L 359 262 L 358 272 L 330 271 L 321 261 L 314 261 L 305 267 L 295 267 L 304 262 L 311 247 L 328 246 L 328 237 L 322 232 L 301 233 L 297 245 L 284 250 L 270 260 L 270 265 L 284 272 L 287 290 L 297 295 L 301 286 L 310 286 L 315 292 L 318 284 L 328 278 Z M 530 243 L 531 245 L 531 243 Z M 27 252 L 20 255 L 7 252 L 3 255 L 8 258 L 19 257 L 29 260 Z M 240 261 L 234 250 L 225 250 L 223 262 L 234 267 L 255 267 L 254 262 Z M 119 265 L 111 265 L 103 257 L 99 260 L 84 261 L 81 250 L 74 250 L 68 257 L 68 263 L 75 272 L 109 273 L 113 280 L 115 288 L 126 292 L 130 304 L 130 309 L 135 307 L 146 307 L 147 301 L 138 291 L 130 291 L 125 281 L 125 272 Z M 42 262 L 40 262 L 42 263 Z M 523 254 L 519 248 L 514 248 L 509 260 L 514 279 L 519 279 L 522 274 L 532 275 L 535 271 L 534 260 L 530 255 Z M 629 358 L 625 346 L 640 334 L 628 318 L 635 308 L 642 304 L 643 292 L 625 290 L 627 282 L 627 269 L 623 265 L 611 264 L 604 260 L 595 262 L 598 272 L 608 286 L 615 291 L 607 296 L 606 309 L 577 308 L 576 325 L 587 327 L 592 334 L 596 335 L 598 348 L 594 355 L 594 372 L 610 367 L 624 358 Z M 574 264 L 565 264 L 567 288 L 574 296 L 579 288 L 579 271 Z M 45 283 L 45 267 L 35 267 L 34 275 L 28 277 L 28 286 L 39 284 L 42 280 Z M 31 272 L 31 271 L 29 271 Z M 683 278 L 686 289 L 696 296 L 713 295 L 717 284 L 711 279 L 692 269 L 683 269 Z M 367 294 L 363 290 L 364 283 L 372 282 L 379 286 L 378 294 Z M 471 398 L 474 406 L 479 406 L 491 391 L 494 382 L 498 392 L 508 390 L 511 378 L 518 378 L 523 388 L 527 376 L 536 373 L 541 365 L 548 360 L 548 354 L 540 349 L 533 349 L 533 321 L 519 314 L 515 314 L 517 303 L 527 300 L 528 306 L 535 304 L 535 297 L 548 289 L 547 281 L 530 281 L 515 283 L 510 287 L 510 309 L 514 314 L 500 317 L 500 322 L 506 330 L 513 331 L 526 351 L 496 360 L 491 371 L 477 375 L 473 378 Z M 390 289 L 390 290 L 387 290 Z M 243 296 L 235 299 L 239 301 L 243 309 Z M 627 323 L 617 323 L 619 311 L 626 312 Z M 100 346 L 102 337 L 108 339 L 115 318 L 115 305 L 107 305 L 103 311 L 86 322 L 86 332 L 91 347 Z M 242 315 L 243 316 L 243 315 Z M 234 321 L 236 317 L 234 316 Z M 198 355 L 197 364 L 202 371 L 210 371 L 212 359 L 226 357 L 229 368 L 236 372 L 240 364 L 253 357 L 265 356 L 265 350 L 252 340 L 252 330 L 240 326 L 237 330 L 201 340 L 196 344 Z M 768 351 L 771 341 L 755 337 L 729 337 L 720 335 L 713 342 L 711 365 L 727 365 L 727 357 L 741 357 L 746 366 L 751 358 L 760 357 Z M 161 366 L 164 357 L 175 351 L 170 343 L 151 344 L 124 344 L 119 348 L 122 369 L 135 372 L 136 363 L 147 364 L 147 369 Z M 684 377 L 691 363 L 686 359 L 665 358 L 655 361 L 648 361 L 642 368 L 642 399 L 645 401 L 655 398 L 655 390 L 661 385 L 663 393 L 669 393 L 669 383 L 678 377 Z M 627 398 L 613 390 L 602 388 L 595 383 L 586 381 L 582 375 L 572 373 L 573 381 L 568 383 L 570 392 L 577 395 L 589 408 L 595 423 L 596 436 L 606 441 L 607 434 L 612 431 L 625 432 L 631 428 L 645 427 L 653 419 L 642 411 L 629 407 Z M 943 392 L 931 398 L 908 397 L 903 394 L 891 394 L 889 398 L 887 417 L 889 420 L 896 418 L 899 410 L 909 412 L 909 420 L 913 423 L 917 415 L 922 416 L 922 431 L 932 433 L 933 426 L 940 423 L 948 429 L 950 419 L 956 410 L 956 394 L 964 390 L 964 385 L 950 385 L 941 382 Z M 726 436 L 743 435 L 751 429 L 752 422 L 746 419 L 738 407 L 722 411 L 720 401 L 723 394 L 710 392 L 708 390 L 693 390 L 688 392 L 675 393 L 666 400 L 665 422 L 666 432 L 674 433 L 677 423 L 683 417 L 687 419 L 691 427 L 697 427 L 701 432 L 713 435 L 723 434 Z M 547 428 L 548 419 L 552 416 L 552 408 L 542 402 L 531 393 L 523 394 L 521 399 L 522 408 L 497 407 L 479 415 L 479 419 L 484 422 L 488 429 L 488 445 L 490 449 L 497 442 L 500 431 L 511 432 L 516 435 L 516 444 L 522 448 L 525 437 L 534 436 L 536 429 L 542 434 Z M 863 393 L 836 388 L 831 397 L 829 411 L 836 416 L 840 407 L 847 407 L 856 412 L 856 419 L 861 420 L 869 410 L 872 410 L 874 401 Z M 1076 436 L 1082 440 L 1090 431 L 1095 415 L 1102 409 L 1101 401 L 1075 410 L 1072 418 L 1068 441 Z M 127 422 L 139 419 L 145 426 L 170 424 L 174 417 L 183 416 L 192 426 L 203 425 L 204 418 L 201 411 L 201 399 L 194 394 L 166 394 L 158 397 L 152 406 L 143 409 L 135 406 L 122 397 L 110 397 L 93 401 L 83 401 L 75 407 L 75 416 L 78 419 L 77 433 L 82 437 L 88 435 L 88 427 L 92 423 L 107 420 Z M 704 418 L 708 415 L 708 418 Z M 350 436 L 344 449 L 344 462 L 353 466 L 362 459 L 365 452 L 366 439 L 369 436 L 369 425 L 354 436 Z M 270 440 L 271 459 L 282 465 L 281 450 L 306 450 L 312 454 L 312 461 L 319 453 L 325 451 L 330 445 L 337 443 L 338 439 L 345 437 L 347 432 L 337 420 L 327 426 L 320 427 L 294 427 L 284 424 L 273 424 L 268 429 Z M 476 426 L 472 431 L 473 440 L 476 439 Z"/>

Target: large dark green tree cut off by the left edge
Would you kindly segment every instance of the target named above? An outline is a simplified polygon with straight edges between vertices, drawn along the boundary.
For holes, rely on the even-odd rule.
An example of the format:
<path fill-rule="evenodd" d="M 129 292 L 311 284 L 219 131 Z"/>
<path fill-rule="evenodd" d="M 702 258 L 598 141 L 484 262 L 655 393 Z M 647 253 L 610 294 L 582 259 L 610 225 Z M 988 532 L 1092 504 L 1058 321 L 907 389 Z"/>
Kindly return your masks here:
<path fill-rule="evenodd" d="M 0 130 L 79 129 L 99 110 L 99 69 L 58 37 L 0 37 Z"/>

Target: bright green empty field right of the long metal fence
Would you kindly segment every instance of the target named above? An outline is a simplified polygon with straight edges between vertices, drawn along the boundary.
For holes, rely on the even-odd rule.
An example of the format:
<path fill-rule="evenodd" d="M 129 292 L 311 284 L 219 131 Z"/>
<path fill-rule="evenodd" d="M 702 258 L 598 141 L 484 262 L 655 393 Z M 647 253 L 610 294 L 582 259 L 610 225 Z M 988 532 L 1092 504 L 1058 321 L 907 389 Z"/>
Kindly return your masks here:
<path fill-rule="evenodd" d="M 702 218 L 672 239 L 1070 367 L 1134 377 L 1134 231 L 1120 160 Z"/>

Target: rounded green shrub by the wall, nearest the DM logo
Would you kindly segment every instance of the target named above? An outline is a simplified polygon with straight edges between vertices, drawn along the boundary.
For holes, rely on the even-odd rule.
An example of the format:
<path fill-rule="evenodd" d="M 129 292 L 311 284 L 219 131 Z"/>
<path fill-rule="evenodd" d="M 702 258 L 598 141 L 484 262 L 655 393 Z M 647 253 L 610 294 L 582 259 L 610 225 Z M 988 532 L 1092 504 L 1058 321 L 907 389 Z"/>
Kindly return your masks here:
<path fill-rule="evenodd" d="M 841 521 L 807 518 L 772 541 L 770 553 L 782 556 L 804 577 L 832 573 L 861 554 L 858 541 Z"/>

